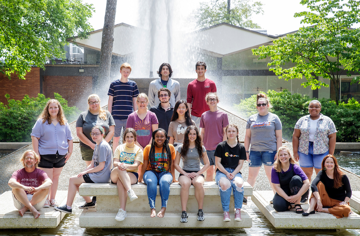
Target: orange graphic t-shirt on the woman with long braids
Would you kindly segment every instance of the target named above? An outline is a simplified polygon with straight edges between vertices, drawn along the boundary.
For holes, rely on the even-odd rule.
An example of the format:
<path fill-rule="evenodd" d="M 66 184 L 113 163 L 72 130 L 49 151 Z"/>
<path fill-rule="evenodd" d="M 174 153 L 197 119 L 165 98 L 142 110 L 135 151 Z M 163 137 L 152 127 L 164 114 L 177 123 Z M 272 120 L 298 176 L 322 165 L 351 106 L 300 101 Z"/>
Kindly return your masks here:
<path fill-rule="evenodd" d="M 171 160 L 175 160 L 175 148 L 174 148 L 174 145 L 169 143 L 169 147 L 170 147 L 170 152 L 171 152 Z M 150 144 L 147 145 L 144 148 L 144 160 L 149 160 L 150 148 L 151 148 Z M 170 170 L 168 169 L 168 166 L 166 164 L 167 159 L 168 159 L 168 157 L 166 155 L 166 152 L 164 153 L 164 157 L 162 157 L 162 147 L 158 148 L 158 147 L 155 146 L 155 159 L 150 160 L 150 161 L 152 161 L 153 165 L 156 166 L 156 169 L 151 168 L 150 161 L 149 161 L 149 164 L 148 164 L 148 167 L 146 168 L 146 170 L 155 170 L 157 172 L 162 172 L 162 171 L 170 172 Z M 165 163 L 161 163 L 162 160 Z"/>

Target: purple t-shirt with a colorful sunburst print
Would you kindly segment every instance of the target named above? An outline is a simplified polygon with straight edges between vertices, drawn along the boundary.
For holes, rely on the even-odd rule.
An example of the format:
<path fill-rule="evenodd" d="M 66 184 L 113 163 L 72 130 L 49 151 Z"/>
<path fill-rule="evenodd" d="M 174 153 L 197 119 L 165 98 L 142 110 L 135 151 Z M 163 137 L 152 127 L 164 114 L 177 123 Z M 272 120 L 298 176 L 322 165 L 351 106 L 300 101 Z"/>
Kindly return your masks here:
<path fill-rule="evenodd" d="M 159 124 L 157 117 L 154 112 L 148 111 L 144 120 L 141 120 L 136 114 L 132 112 L 127 118 L 126 128 L 134 128 L 136 131 L 136 140 L 145 148 L 149 144 L 152 137 L 152 128 L 151 125 Z"/>

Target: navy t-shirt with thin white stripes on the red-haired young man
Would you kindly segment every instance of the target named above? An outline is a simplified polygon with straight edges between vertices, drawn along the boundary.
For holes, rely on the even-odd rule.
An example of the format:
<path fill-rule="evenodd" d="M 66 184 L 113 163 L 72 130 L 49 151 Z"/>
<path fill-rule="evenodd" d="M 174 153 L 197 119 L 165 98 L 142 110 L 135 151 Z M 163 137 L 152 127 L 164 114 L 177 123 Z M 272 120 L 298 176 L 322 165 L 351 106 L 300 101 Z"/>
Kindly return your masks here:
<path fill-rule="evenodd" d="M 117 79 L 111 82 L 108 95 L 114 97 L 111 115 L 114 119 L 124 120 L 133 112 L 132 98 L 139 95 L 138 85 L 132 80 L 122 83 Z"/>

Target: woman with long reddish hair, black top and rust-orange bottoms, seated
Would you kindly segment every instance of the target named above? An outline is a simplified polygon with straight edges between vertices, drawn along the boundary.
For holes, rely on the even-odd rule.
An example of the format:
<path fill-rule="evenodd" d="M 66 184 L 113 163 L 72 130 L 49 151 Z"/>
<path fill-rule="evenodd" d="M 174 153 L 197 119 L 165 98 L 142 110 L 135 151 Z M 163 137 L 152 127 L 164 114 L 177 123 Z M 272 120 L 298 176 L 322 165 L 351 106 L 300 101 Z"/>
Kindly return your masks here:
<path fill-rule="evenodd" d="M 333 155 L 324 157 L 320 170 L 311 183 L 310 207 L 303 216 L 319 212 L 333 214 L 336 218 L 348 217 L 351 208 L 348 202 L 351 197 L 351 187 L 347 176 L 340 170 Z"/>

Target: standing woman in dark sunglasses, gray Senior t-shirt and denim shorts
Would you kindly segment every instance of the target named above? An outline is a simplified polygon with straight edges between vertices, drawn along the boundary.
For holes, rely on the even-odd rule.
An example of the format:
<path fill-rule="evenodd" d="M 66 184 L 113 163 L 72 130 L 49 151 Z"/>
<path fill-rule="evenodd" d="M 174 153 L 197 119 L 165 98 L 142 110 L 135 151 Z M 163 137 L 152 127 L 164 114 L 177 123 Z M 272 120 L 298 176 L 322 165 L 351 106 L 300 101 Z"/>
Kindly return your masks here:
<path fill-rule="evenodd" d="M 270 107 L 272 106 L 265 94 L 256 95 L 256 108 L 259 113 L 250 116 L 247 121 L 244 146 L 249 161 L 247 182 L 254 187 L 256 177 L 264 163 L 267 179 L 275 194 L 271 183 L 271 169 L 276 160 L 276 150 L 282 146 L 282 124 L 277 115 L 268 111 Z M 249 151 L 250 144 L 251 151 Z M 273 203 L 273 200 L 270 203 Z"/>

